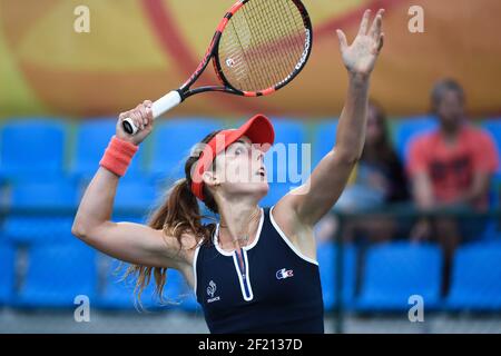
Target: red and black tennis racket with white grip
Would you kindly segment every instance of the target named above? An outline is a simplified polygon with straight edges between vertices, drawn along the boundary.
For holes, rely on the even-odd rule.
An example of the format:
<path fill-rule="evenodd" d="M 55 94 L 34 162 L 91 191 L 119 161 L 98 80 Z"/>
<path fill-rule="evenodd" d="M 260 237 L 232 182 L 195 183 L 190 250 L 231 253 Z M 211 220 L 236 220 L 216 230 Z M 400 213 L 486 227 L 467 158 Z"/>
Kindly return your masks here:
<path fill-rule="evenodd" d="M 306 65 L 312 51 L 312 23 L 299 0 L 239 0 L 217 27 L 210 46 L 189 79 L 153 103 L 158 118 L 186 98 L 205 91 L 244 97 L 275 92 L 289 83 Z M 219 85 L 190 89 L 213 61 Z M 124 129 L 135 135 L 130 118 Z"/>

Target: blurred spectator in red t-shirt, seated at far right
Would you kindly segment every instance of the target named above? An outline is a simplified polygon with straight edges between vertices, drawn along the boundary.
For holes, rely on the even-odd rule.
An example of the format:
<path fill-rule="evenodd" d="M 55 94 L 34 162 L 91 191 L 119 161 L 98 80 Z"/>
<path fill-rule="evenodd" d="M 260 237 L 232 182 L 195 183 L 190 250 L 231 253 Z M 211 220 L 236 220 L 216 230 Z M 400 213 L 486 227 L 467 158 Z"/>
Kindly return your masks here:
<path fill-rule="evenodd" d="M 421 209 L 488 208 L 490 180 L 499 158 L 491 137 L 468 122 L 464 101 L 463 89 L 453 80 L 441 80 L 432 90 L 432 109 L 440 127 L 411 144 L 407 160 L 414 201 Z M 485 220 L 473 218 L 422 219 L 411 237 L 422 240 L 436 236 L 449 265 L 460 240 L 480 236 L 484 226 Z"/>

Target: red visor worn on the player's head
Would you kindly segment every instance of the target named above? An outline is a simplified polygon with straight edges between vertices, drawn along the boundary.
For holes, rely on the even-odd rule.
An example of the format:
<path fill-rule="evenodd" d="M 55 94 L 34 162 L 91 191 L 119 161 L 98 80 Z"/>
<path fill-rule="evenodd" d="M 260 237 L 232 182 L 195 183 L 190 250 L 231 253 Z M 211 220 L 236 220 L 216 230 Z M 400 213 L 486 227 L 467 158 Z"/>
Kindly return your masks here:
<path fill-rule="evenodd" d="M 202 176 L 210 167 L 214 158 L 224 151 L 229 145 L 238 140 L 242 136 L 247 136 L 253 144 L 263 145 L 263 150 L 267 150 L 275 139 L 273 125 L 264 115 L 256 115 L 248 119 L 237 129 L 223 130 L 206 144 L 204 150 L 195 164 L 191 176 L 191 191 L 200 200 L 204 200 L 204 180 Z"/>

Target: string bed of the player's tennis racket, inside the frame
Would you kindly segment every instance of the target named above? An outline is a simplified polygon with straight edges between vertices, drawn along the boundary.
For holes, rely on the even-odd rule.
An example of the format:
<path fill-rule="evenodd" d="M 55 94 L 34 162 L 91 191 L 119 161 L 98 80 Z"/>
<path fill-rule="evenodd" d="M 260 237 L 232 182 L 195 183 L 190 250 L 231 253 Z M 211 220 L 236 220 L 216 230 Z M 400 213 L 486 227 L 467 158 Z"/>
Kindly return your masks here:
<path fill-rule="evenodd" d="M 230 19 L 219 62 L 238 90 L 261 91 L 286 81 L 308 46 L 303 16 L 291 0 L 250 0 Z"/>

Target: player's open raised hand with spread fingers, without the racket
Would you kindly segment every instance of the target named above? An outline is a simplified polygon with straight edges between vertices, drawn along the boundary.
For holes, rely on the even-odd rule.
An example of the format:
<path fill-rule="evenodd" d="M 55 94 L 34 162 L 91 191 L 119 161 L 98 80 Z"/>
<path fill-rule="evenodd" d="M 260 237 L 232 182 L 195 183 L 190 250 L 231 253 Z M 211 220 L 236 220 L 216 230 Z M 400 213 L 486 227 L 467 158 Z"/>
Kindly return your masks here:
<path fill-rule="evenodd" d="M 342 30 L 336 31 L 344 66 L 351 73 L 369 76 L 374 69 L 375 61 L 383 47 L 383 13 L 384 9 L 380 9 L 371 28 L 369 28 L 371 10 L 365 10 L 358 33 L 351 46 L 347 44 L 344 32 Z"/>

